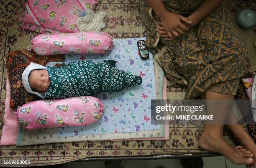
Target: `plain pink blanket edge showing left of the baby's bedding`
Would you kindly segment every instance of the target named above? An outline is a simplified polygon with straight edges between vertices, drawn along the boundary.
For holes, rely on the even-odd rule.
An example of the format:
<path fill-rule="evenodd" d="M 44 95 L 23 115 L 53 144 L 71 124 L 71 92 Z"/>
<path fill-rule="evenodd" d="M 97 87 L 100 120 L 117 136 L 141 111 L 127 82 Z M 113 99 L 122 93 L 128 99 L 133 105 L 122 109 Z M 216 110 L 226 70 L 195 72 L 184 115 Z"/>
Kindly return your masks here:
<path fill-rule="evenodd" d="M 4 126 L 0 145 L 16 145 L 19 124 L 16 120 L 15 109 L 10 108 L 10 82 L 8 76 L 6 77 L 6 99 L 5 99 L 5 115 Z"/>

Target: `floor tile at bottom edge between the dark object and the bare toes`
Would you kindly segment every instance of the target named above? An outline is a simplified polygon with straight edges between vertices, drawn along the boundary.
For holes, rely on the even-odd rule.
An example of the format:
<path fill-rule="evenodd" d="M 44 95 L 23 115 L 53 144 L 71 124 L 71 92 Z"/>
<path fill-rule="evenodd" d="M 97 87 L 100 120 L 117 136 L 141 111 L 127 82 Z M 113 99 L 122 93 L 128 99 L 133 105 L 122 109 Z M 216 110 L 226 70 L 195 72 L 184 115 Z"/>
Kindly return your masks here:
<path fill-rule="evenodd" d="M 204 168 L 226 168 L 224 156 L 205 157 L 202 159 L 204 161 Z"/>

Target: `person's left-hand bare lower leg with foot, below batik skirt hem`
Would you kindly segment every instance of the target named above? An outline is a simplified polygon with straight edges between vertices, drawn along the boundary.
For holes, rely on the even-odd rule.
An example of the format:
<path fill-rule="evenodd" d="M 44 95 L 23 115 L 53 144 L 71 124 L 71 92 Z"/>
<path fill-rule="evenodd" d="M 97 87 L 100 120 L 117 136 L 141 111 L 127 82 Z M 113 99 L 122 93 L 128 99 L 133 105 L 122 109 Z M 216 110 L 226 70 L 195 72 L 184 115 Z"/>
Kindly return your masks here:
<path fill-rule="evenodd" d="M 228 94 L 221 94 L 217 92 L 207 91 L 205 92 L 205 99 L 221 100 L 221 99 L 233 99 L 234 96 Z M 228 112 L 230 111 L 230 104 L 207 104 L 207 115 L 215 115 L 216 112 L 220 112 L 222 115 L 215 116 L 219 121 L 225 122 Z M 223 123 L 224 123 L 223 122 Z M 243 157 L 241 153 L 237 151 L 237 148 L 230 146 L 223 138 L 223 126 L 213 125 L 206 122 L 204 132 L 199 140 L 199 145 L 205 150 L 212 152 L 218 152 L 227 157 L 233 163 L 236 164 L 252 164 L 253 159 L 251 157 Z"/>

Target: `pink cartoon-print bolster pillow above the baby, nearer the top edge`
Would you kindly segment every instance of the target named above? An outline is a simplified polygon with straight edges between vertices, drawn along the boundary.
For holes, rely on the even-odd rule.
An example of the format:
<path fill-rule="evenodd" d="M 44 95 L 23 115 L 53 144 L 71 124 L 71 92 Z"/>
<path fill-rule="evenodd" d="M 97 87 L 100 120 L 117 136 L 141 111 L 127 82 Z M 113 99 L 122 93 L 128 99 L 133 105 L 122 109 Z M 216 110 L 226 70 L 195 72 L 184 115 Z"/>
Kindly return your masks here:
<path fill-rule="evenodd" d="M 113 41 L 108 33 L 93 31 L 39 34 L 33 38 L 32 48 L 38 55 L 104 54 L 113 48 Z"/>

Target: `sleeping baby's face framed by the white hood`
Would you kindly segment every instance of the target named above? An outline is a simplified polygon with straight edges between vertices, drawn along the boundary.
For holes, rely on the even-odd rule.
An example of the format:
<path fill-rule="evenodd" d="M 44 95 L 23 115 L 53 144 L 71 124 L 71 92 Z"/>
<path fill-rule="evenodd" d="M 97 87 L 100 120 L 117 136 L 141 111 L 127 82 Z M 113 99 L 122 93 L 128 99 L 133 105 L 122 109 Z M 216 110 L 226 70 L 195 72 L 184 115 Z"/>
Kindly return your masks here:
<path fill-rule="evenodd" d="M 35 92 L 46 92 L 50 86 L 50 79 L 47 70 L 34 70 L 28 78 L 31 89 Z"/>

